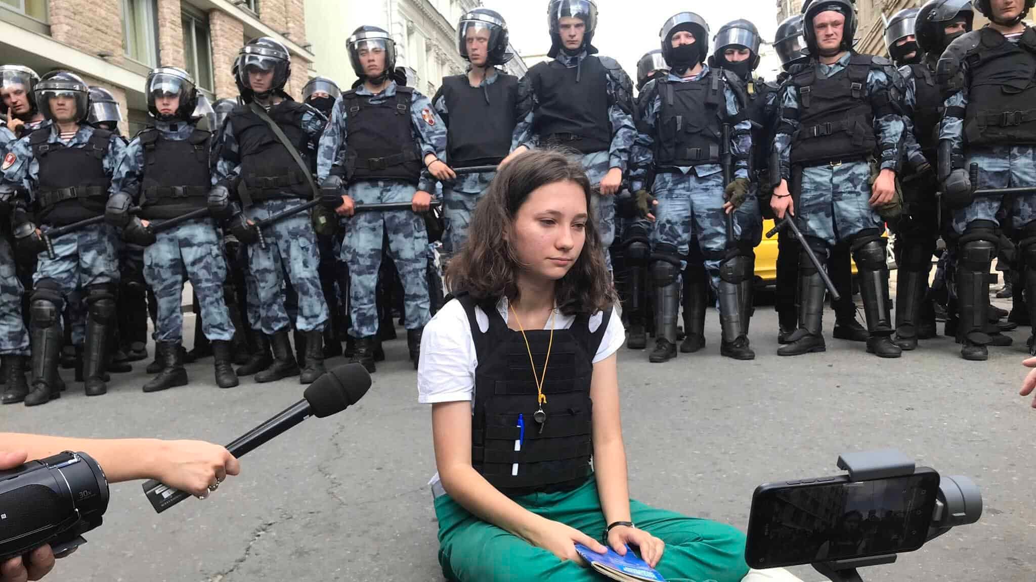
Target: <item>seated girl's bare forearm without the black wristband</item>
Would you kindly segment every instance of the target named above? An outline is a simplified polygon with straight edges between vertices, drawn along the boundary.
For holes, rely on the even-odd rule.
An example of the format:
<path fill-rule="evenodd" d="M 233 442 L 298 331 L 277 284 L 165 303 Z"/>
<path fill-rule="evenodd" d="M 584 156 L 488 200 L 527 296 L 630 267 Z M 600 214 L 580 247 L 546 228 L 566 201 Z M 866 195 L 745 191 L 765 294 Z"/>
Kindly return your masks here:
<path fill-rule="evenodd" d="M 525 541 L 546 519 L 500 493 L 470 465 L 440 468 L 442 488 L 472 515 Z"/>

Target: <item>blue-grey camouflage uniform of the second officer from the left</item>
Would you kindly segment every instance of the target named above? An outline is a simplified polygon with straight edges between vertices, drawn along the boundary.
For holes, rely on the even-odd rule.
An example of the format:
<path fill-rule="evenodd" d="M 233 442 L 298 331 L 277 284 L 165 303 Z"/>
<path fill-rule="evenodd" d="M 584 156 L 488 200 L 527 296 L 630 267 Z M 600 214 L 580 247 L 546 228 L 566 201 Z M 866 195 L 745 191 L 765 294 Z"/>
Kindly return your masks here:
<path fill-rule="evenodd" d="M 45 123 L 42 126 L 51 129 L 47 143 L 62 143 L 57 126 L 52 123 Z M 87 145 L 93 132 L 90 125 L 80 125 L 71 140 L 64 144 L 65 147 L 78 148 Z M 115 165 L 124 149 L 122 138 L 118 134 L 112 134 L 108 149 L 102 158 L 104 171 L 109 176 L 114 173 Z M 13 155 L 13 162 L 7 164 L 10 157 L 4 161 L 3 183 L 25 188 L 30 194 L 29 203 L 32 204 L 37 191 L 39 161 L 32 153 L 29 136 L 15 142 L 9 147 L 8 154 Z M 44 232 L 51 229 L 50 225 L 46 224 L 36 226 Z M 53 280 L 60 287 L 63 300 L 78 304 L 82 298 L 78 292 L 81 287 L 118 283 L 117 241 L 116 230 L 104 223 L 84 227 L 52 239 L 55 258 L 52 259 L 47 253 L 39 254 L 36 271 L 32 275 L 33 285 L 37 285 L 44 279 Z M 59 312 L 65 308 L 64 304 L 56 307 Z M 73 313 L 74 310 L 69 310 L 69 316 Z M 85 318 L 69 317 L 69 320 L 73 322 L 73 344 L 82 344 L 86 339 Z"/>

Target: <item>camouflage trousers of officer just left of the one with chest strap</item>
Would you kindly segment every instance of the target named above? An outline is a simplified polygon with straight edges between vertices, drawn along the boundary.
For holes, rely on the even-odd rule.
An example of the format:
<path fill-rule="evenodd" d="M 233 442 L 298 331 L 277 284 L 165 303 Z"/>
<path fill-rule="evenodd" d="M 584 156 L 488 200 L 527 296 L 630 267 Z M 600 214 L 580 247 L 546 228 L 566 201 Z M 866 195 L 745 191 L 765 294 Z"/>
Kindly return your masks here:
<path fill-rule="evenodd" d="M 198 295 L 205 337 L 209 341 L 232 340 L 234 325 L 223 296 L 227 262 L 212 220 L 183 223 L 155 238 L 144 249 L 144 281 L 159 303 L 155 341 L 179 344 L 183 339 L 180 301 L 184 277 Z"/>

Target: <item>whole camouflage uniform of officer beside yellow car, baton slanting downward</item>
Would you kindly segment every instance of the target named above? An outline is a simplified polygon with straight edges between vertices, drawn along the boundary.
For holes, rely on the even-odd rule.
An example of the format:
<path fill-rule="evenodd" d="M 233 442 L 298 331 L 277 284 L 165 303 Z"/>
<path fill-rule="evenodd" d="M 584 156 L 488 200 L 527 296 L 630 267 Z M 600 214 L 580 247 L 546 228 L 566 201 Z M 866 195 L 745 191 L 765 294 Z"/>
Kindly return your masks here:
<path fill-rule="evenodd" d="M 828 78 L 845 68 L 851 56 L 852 53 L 846 52 L 832 64 L 813 61 L 807 66 L 815 66 L 818 77 Z M 867 72 L 866 96 L 871 98 L 888 92 L 893 83 L 899 83 L 893 66 L 871 67 Z M 799 119 L 789 111 L 799 109 L 799 88 L 794 83 L 786 83 L 779 98 L 781 118 L 774 147 L 780 152 L 780 177 L 788 180 L 790 188 L 792 135 L 799 129 Z M 897 171 L 902 155 L 903 116 L 888 113 L 875 117 L 873 126 L 881 150 L 881 169 Z M 867 161 L 804 167 L 802 193 L 795 201 L 795 215 L 802 233 L 825 241 L 830 249 L 836 241 L 851 238 L 865 229 L 884 231 L 885 222 L 869 203 L 872 195 L 869 179 Z"/>

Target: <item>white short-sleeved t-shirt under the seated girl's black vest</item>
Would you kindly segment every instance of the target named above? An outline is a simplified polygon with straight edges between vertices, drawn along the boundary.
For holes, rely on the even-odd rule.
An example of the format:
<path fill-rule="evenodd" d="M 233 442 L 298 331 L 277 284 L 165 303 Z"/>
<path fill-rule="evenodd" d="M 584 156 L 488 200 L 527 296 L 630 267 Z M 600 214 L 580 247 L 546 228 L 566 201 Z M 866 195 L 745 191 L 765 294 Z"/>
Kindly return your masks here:
<path fill-rule="evenodd" d="M 496 303 L 496 311 L 507 322 L 510 312 L 507 298 Z M 474 317 L 483 332 L 489 329 L 489 317 L 481 308 L 474 308 Z M 589 318 L 591 332 L 597 331 L 603 319 L 604 314 L 601 312 Z M 555 312 L 553 325 L 555 329 L 568 329 L 574 321 L 575 316 Z M 549 317 L 543 328 L 550 329 Z M 601 346 L 594 355 L 594 363 L 618 351 L 625 342 L 626 329 L 618 313 L 612 308 Z M 418 402 L 435 404 L 467 400 L 471 402 L 473 412 L 474 369 L 478 366 L 479 358 L 474 352 L 474 339 L 471 338 L 467 314 L 460 301 L 453 299 L 435 314 L 422 332 L 421 359 L 418 363 Z M 436 473 L 429 484 L 438 481 L 439 475 Z"/>

